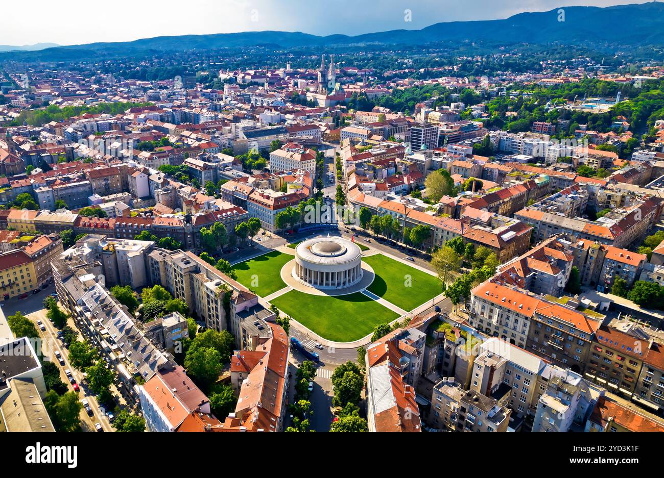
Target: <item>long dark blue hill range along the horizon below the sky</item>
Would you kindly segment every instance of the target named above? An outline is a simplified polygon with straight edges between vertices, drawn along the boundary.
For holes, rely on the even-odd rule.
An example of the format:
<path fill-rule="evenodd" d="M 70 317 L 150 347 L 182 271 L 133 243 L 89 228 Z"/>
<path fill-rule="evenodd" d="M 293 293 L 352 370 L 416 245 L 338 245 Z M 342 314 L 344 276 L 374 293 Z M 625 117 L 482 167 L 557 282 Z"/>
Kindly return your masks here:
<path fill-rule="evenodd" d="M 616 5 L 614 7 L 564 7 L 528 12 L 503 20 L 436 23 L 420 30 L 390 30 L 357 36 L 317 36 L 302 32 L 240 32 L 205 35 L 156 36 L 131 42 L 98 42 L 58 46 L 39 51 L 13 51 L 3 59 L 75 60 L 90 56 L 120 56 L 141 52 L 212 50 L 243 46 L 343 46 L 352 44 L 428 44 L 436 41 L 485 41 L 510 44 L 529 42 L 570 45 L 624 46 L 664 44 L 664 3 Z M 0 47 L 1 48 L 1 47 Z"/>

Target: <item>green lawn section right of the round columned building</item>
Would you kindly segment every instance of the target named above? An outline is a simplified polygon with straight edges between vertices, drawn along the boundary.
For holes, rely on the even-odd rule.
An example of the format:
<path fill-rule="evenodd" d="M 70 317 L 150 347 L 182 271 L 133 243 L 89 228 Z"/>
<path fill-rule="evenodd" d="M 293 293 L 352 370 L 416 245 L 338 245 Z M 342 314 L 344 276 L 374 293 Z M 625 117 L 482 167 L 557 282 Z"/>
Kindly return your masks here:
<path fill-rule="evenodd" d="M 367 290 L 403 310 L 413 310 L 442 293 L 438 278 L 420 269 L 380 254 L 365 257 L 364 261 L 376 274 Z"/>

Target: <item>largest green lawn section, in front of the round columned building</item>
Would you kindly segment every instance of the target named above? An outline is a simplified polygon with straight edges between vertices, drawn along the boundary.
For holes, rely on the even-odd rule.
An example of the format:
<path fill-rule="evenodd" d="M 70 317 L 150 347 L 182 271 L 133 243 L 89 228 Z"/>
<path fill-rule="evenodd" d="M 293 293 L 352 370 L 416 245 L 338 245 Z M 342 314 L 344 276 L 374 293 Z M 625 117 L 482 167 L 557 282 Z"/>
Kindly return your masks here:
<path fill-rule="evenodd" d="M 336 342 L 361 339 L 371 333 L 376 324 L 399 317 L 360 292 L 314 296 L 291 290 L 271 302 L 303 326 Z"/>

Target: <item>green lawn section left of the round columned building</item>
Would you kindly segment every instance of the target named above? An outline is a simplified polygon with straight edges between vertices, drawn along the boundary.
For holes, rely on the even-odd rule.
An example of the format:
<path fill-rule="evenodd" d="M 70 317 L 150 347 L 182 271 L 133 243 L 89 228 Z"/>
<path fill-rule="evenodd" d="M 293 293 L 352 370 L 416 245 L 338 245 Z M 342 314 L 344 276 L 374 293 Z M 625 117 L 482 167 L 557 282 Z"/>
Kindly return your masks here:
<path fill-rule="evenodd" d="M 250 288 L 261 297 L 266 297 L 286 287 L 282 280 L 282 267 L 292 261 L 290 254 L 272 251 L 254 259 L 233 266 L 238 274 L 238 282 Z M 254 277 L 255 275 L 255 277 Z"/>

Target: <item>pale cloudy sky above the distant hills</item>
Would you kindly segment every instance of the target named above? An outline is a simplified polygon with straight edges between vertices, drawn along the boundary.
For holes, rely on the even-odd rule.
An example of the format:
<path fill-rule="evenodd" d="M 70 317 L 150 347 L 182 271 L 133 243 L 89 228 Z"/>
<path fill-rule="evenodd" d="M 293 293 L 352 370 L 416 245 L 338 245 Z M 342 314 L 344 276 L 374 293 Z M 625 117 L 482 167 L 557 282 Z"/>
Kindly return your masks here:
<path fill-rule="evenodd" d="M 568 5 L 645 0 L 31 0 L 0 4 L 0 44 L 62 45 L 251 30 L 320 35 L 421 29 L 438 22 L 504 19 Z"/>

